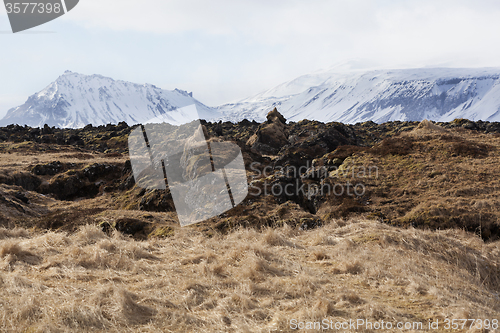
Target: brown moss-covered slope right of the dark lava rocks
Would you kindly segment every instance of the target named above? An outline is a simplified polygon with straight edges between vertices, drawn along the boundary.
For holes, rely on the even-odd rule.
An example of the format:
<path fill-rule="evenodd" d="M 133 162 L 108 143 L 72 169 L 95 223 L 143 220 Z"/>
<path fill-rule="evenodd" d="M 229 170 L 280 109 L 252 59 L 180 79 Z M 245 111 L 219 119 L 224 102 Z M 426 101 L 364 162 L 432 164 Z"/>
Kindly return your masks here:
<path fill-rule="evenodd" d="M 366 193 L 355 205 L 368 218 L 404 227 L 462 228 L 497 239 L 499 147 L 497 135 L 413 131 L 356 152 L 328 180 L 363 183 Z M 363 166 L 375 168 L 364 175 Z"/>

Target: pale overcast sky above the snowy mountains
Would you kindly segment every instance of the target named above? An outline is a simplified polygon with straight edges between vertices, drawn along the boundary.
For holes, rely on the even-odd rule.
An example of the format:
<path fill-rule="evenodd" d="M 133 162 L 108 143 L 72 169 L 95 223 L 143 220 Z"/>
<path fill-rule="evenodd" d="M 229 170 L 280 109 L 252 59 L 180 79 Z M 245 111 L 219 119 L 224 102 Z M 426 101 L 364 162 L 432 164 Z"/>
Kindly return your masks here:
<path fill-rule="evenodd" d="M 357 59 L 500 67 L 498 0 L 80 0 L 12 34 L 0 9 L 0 117 L 65 70 L 193 91 L 216 106 Z"/>

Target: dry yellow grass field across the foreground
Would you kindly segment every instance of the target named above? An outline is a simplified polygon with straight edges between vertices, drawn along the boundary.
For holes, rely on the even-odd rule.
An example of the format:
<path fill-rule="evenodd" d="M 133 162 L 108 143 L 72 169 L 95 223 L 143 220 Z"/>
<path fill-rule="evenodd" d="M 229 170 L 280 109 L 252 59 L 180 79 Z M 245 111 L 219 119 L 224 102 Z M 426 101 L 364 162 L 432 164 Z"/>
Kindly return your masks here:
<path fill-rule="evenodd" d="M 499 319 L 499 254 L 500 241 L 458 230 L 362 220 L 211 238 L 186 228 L 148 241 L 95 226 L 0 229 L 0 331 L 293 332 L 292 319 Z"/>

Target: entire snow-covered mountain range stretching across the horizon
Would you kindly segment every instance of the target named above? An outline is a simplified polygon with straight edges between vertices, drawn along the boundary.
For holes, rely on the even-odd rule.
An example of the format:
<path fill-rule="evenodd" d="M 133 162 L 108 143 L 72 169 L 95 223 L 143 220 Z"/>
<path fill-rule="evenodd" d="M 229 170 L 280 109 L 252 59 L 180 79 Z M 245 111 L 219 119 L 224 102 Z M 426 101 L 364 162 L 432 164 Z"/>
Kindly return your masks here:
<path fill-rule="evenodd" d="M 335 67 L 218 108 L 208 107 L 182 90 L 68 71 L 23 105 L 9 110 L 0 126 L 82 127 L 120 121 L 131 125 L 151 119 L 177 124 L 185 122 L 186 115 L 171 111 L 192 104 L 205 120 L 264 121 L 277 107 L 291 121 L 500 121 L 500 69 Z"/>

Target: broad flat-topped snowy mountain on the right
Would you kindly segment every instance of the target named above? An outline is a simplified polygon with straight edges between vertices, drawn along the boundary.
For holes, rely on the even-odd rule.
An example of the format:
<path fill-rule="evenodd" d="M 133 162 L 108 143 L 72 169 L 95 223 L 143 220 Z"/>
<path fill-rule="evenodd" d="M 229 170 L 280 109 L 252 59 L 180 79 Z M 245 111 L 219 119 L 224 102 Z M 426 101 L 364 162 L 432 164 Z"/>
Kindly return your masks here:
<path fill-rule="evenodd" d="M 304 75 L 219 108 L 225 118 L 263 121 L 273 107 L 291 121 L 500 121 L 500 69 L 422 68 Z"/>

